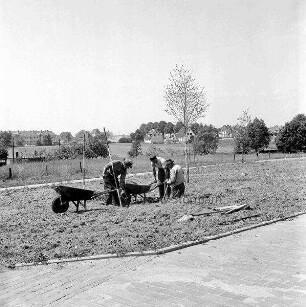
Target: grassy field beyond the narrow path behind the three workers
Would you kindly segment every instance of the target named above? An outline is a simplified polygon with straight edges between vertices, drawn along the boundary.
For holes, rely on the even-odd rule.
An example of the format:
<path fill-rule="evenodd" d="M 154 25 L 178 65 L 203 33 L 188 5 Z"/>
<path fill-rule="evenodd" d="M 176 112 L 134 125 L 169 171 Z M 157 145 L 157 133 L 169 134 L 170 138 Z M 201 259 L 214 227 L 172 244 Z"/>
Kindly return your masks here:
<path fill-rule="evenodd" d="M 127 156 L 131 144 L 111 144 L 111 151 L 113 158 L 123 159 Z M 132 173 L 147 172 L 151 170 L 150 161 L 146 155 L 149 149 L 149 144 L 142 144 L 143 155 L 134 159 L 134 166 Z M 183 155 L 183 144 L 169 144 L 156 145 L 159 155 L 165 158 L 172 158 L 178 164 L 184 165 L 185 158 Z M 197 165 L 211 165 L 219 163 L 233 162 L 233 140 L 221 140 L 218 152 L 215 155 L 197 156 L 194 161 L 191 157 L 191 166 Z M 299 157 L 302 154 L 282 154 L 274 153 L 260 154 L 256 157 L 255 154 L 245 155 L 246 161 L 256 161 L 258 159 L 278 159 L 285 157 Z M 240 161 L 241 156 L 236 156 L 236 161 Z M 86 159 L 85 169 L 86 178 L 100 177 L 103 172 L 103 167 L 109 162 L 108 158 L 101 159 Z M 81 171 L 82 159 L 72 160 L 56 160 L 48 162 L 29 162 L 29 163 L 15 163 L 0 167 L 0 188 L 9 186 L 28 185 L 34 183 L 67 181 L 74 179 L 82 179 L 83 173 Z M 12 171 L 12 178 L 9 177 L 9 168 Z"/>

